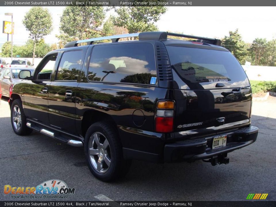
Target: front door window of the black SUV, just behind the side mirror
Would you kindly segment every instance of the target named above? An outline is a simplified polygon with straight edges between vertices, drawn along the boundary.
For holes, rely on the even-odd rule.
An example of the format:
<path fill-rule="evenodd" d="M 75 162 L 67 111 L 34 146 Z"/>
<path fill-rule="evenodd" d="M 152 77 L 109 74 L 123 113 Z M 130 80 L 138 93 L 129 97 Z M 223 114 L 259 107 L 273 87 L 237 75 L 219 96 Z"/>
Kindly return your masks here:
<path fill-rule="evenodd" d="M 51 80 L 51 73 L 55 67 L 56 59 L 57 53 L 48 55 L 45 59 L 43 59 L 43 62 L 38 69 L 37 80 Z"/>

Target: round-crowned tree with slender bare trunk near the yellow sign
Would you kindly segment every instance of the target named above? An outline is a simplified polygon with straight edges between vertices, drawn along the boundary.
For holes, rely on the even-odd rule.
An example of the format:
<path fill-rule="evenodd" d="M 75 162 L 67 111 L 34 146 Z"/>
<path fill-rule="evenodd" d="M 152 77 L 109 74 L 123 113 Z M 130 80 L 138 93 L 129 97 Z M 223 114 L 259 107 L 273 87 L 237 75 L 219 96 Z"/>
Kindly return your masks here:
<path fill-rule="evenodd" d="M 34 40 L 32 56 L 32 64 L 34 64 L 36 43 L 53 30 L 52 17 L 47 8 L 32 7 L 24 16 L 23 24 L 30 32 L 30 38 Z"/>

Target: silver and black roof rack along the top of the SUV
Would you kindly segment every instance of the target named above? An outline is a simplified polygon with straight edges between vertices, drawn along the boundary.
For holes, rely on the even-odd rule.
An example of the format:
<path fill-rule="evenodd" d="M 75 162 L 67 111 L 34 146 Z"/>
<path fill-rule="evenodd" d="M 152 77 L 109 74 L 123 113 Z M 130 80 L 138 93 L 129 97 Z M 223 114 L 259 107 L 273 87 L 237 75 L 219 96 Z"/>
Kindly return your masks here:
<path fill-rule="evenodd" d="M 78 43 L 87 43 L 87 45 L 91 45 L 93 43 L 99 43 L 96 41 L 107 40 L 107 39 L 111 39 L 112 42 L 114 43 L 114 42 L 118 42 L 119 39 L 121 39 L 121 38 L 127 38 L 127 37 L 139 37 L 139 40 L 166 40 L 168 35 L 177 36 L 177 37 L 193 38 L 193 39 L 198 39 L 204 43 L 221 45 L 221 41 L 219 39 L 196 37 L 196 36 L 191 36 L 191 35 L 186 35 L 186 34 L 177 34 L 177 33 L 171 33 L 171 32 L 140 32 L 140 33 L 120 34 L 120 35 L 113 35 L 113 36 L 107 36 L 107 37 L 96 37 L 96 38 L 92 38 L 92 39 L 72 41 L 70 43 L 67 43 L 64 47 L 76 47 L 76 46 L 78 46 Z"/>

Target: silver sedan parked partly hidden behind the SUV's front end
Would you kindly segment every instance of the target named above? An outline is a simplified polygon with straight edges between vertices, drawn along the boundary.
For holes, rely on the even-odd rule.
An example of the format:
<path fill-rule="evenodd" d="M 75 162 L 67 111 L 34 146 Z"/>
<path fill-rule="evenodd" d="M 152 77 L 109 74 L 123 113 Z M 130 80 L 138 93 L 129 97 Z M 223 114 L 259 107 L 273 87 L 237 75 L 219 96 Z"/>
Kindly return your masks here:
<path fill-rule="evenodd" d="M 21 81 L 18 78 L 20 70 L 26 70 L 26 68 L 4 68 L 0 69 L 0 91 L 2 91 L 3 96 L 9 97 L 11 94 L 11 89 L 14 83 Z M 28 68 L 32 73 L 34 68 Z"/>

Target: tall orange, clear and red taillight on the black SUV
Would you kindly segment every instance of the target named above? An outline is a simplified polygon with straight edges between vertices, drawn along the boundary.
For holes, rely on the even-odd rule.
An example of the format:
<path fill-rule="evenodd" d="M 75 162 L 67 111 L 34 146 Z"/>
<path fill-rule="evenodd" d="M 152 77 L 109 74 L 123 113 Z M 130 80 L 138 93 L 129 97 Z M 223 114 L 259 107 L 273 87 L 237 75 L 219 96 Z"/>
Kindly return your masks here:
<path fill-rule="evenodd" d="M 158 101 L 155 117 L 156 132 L 168 133 L 173 131 L 174 108 L 174 101 Z"/>

